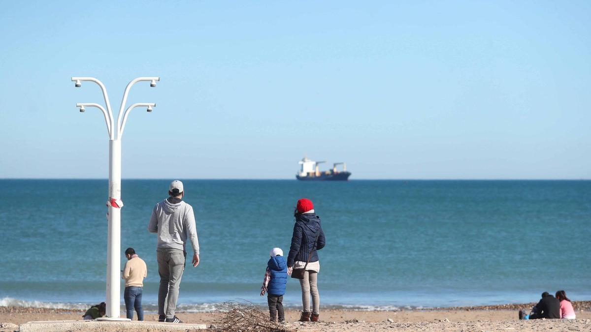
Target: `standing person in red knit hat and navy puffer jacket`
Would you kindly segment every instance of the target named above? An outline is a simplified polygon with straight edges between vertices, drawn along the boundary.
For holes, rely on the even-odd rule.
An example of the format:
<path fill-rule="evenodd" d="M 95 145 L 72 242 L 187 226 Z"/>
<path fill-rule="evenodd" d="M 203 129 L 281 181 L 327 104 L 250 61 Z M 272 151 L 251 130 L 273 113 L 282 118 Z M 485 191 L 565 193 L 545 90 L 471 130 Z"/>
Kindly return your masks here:
<path fill-rule="evenodd" d="M 324 232 L 320 227 L 320 217 L 314 213 L 314 204 L 308 198 L 297 201 L 294 217 L 296 224 L 291 237 L 290 253 L 287 256 L 289 267 L 287 273 L 291 275 L 293 269 L 303 269 L 306 266 L 304 279 L 300 279 L 303 304 L 300 321 L 319 321 L 320 294 L 316 283 L 318 272 L 320 272 L 320 261 L 316 250 L 324 248 Z M 310 294 L 312 296 L 311 312 Z"/>

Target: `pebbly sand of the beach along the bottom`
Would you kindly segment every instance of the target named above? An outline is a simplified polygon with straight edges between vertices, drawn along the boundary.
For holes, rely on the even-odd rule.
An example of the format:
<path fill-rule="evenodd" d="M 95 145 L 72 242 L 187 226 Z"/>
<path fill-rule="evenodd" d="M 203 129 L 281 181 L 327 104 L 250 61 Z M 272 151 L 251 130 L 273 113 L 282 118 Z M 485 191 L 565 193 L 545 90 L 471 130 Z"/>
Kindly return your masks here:
<path fill-rule="evenodd" d="M 519 321 L 518 308 L 532 304 L 493 305 L 486 307 L 433 308 L 402 311 L 322 311 L 320 323 L 296 322 L 299 313 L 288 310 L 286 330 L 293 331 L 591 331 L 591 301 L 574 302 L 577 320 Z M 82 311 L 0 307 L 0 322 L 15 325 L 28 321 L 78 320 Z M 216 324 L 212 313 L 178 313 L 186 323 Z M 157 321 L 155 314 L 145 315 Z M 15 331 L 14 326 L 0 331 Z M 97 331 L 109 331 L 100 329 Z M 146 331 L 145 329 L 142 331 Z"/>

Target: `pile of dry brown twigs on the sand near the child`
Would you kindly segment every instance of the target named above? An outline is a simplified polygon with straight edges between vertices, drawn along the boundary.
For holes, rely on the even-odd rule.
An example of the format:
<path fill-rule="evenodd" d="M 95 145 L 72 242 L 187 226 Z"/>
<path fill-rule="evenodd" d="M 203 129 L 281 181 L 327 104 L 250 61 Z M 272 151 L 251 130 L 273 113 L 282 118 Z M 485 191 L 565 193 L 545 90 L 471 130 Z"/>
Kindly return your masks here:
<path fill-rule="evenodd" d="M 246 301 L 228 301 L 215 306 L 215 329 L 228 332 L 287 332 L 281 324 L 269 320 L 269 314 Z"/>

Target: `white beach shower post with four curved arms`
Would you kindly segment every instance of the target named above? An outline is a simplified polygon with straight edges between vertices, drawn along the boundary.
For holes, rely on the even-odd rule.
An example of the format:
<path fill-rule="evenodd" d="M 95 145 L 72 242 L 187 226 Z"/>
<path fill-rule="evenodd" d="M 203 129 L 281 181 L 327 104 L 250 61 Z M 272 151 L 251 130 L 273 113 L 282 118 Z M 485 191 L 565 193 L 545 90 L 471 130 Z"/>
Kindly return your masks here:
<path fill-rule="evenodd" d="M 125 93 L 121 100 L 121 107 L 117 116 L 117 123 L 113 121 L 113 112 L 111 111 L 111 103 L 109 103 L 109 96 L 105 89 L 105 85 L 94 77 L 72 77 L 72 82 L 75 82 L 76 87 L 82 86 L 83 81 L 95 82 L 100 86 L 105 97 L 106 109 L 97 103 L 77 103 L 76 107 L 80 108 L 80 112 L 85 112 L 86 107 L 95 107 L 102 110 L 105 116 L 107 131 L 109 133 L 109 201 L 108 206 L 108 239 L 107 239 L 107 296 L 106 296 L 106 318 L 103 320 L 127 320 L 127 318 L 119 318 L 121 298 L 121 285 L 119 284 L 119 272 L 121 266 L 121 138 L 125 129 L 125 123 L 129 111 L 137 107 L 147 107 L 148 112 L 152 112 L 152 108 L 156 106 L 154 103 L 135 103 L 125 109 L 125 103 L 129 94 L 129 89 L 140 81 L 150 81 L 150 86 L 155 87 L 156 81 L 160 81 L 160 77 L 138 77 L 132 80 L 125 87 Z"/>

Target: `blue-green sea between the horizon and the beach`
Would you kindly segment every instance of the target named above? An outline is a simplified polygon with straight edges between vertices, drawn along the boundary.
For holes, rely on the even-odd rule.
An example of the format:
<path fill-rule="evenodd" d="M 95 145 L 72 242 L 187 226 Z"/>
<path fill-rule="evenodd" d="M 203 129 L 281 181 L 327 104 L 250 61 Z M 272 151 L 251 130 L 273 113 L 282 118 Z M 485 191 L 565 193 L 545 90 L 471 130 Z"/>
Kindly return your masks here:
<path fill-rule="evenodd" d="M 168 183 L 122 182 L 121 249 L 135 248 L 148 265 L 148 310 L 159 277 L 147 224 Z M 259 289 L 268 252 L 278 246 L 287 253 L 300 197 L 314 201 L 326 234 L 319 252 L 324 308 L 529 302 L 559 289 L 572 300 L 591 300 L 591 181 L 184 185 L 202 262 L 193 268 L 187 255 L 181 310 L 236 298 L 265 302 Z M 106 180 L 0 180 L 0 305 L 86 307 L 105 300 L 107 187 Z M 295 279 L 284 302 L 301 304 Z"/>

